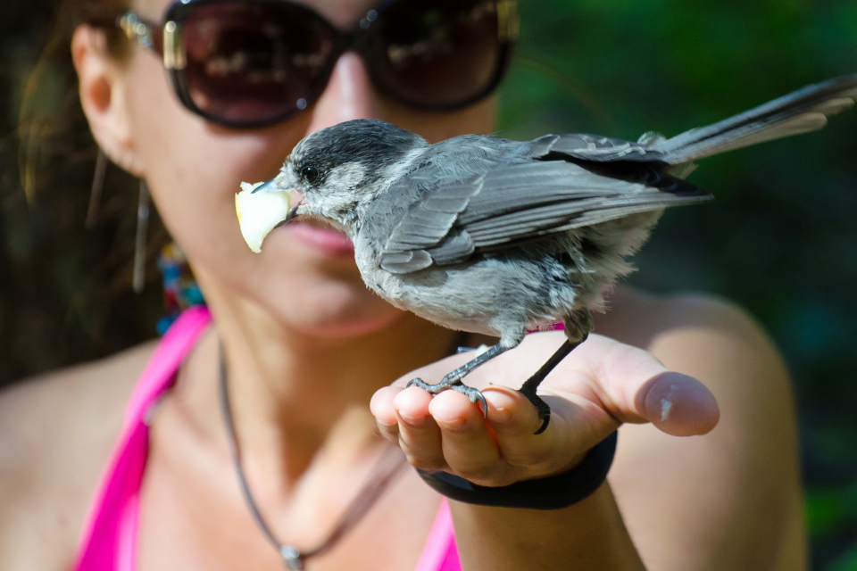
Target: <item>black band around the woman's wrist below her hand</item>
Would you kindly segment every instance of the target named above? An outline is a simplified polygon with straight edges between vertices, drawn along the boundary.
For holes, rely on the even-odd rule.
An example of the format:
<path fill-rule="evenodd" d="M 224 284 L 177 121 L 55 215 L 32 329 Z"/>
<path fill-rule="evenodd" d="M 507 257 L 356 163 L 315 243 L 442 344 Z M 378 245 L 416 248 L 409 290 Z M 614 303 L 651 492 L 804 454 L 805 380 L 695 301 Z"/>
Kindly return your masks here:
<path fill-rule="evenodd" d="M 417 472 L 426 484 L 454 501 L 497 508 L 568 508 L 588 498 L 607 479 L 616 454 L 616 436 L 614 432 L 595 444 L 587 457 L 568 472 L 500 487 L 473 484 L 446 472 Z"/>

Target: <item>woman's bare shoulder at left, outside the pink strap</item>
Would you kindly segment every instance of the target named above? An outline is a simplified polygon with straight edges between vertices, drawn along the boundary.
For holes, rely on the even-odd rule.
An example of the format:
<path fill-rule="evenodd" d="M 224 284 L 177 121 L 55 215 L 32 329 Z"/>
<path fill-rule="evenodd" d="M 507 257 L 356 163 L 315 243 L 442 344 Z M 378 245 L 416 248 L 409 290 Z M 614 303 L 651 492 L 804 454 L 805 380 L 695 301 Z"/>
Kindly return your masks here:
<path fill-rule="evenodd" d="M 73 556 L 125 404 L 154 347 L 144 343 L 0 392 L 0 567 L 69 566 L 64 559 Z"/>

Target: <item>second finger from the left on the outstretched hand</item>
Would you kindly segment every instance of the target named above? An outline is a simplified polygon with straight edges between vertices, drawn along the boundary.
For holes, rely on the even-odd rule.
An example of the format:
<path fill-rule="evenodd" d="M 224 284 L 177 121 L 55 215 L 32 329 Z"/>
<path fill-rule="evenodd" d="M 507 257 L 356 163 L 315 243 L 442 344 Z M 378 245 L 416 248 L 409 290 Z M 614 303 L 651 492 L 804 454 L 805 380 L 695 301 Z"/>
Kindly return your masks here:
<path fill-rule="evenodd" d="M 428 412 L 432 396 L 412 386 L 395 395 L 395 414 L 399 426 L 399 447 L 414 468 L 448 468 L 441 442 L 440 428 Z"/>

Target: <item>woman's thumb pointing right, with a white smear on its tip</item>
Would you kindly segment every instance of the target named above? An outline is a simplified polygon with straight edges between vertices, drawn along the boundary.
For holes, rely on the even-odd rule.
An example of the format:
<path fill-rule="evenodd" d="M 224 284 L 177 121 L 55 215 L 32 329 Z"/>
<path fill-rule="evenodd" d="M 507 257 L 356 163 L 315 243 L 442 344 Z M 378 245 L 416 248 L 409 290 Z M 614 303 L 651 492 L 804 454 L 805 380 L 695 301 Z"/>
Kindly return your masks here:
<path fill-rule="evenodd" d="M 598 335 L 579 349 L 593 390 L 620 422 L 651 422 L 675 435 L 705 434 L 717 424 L 720 411 L 708 388 L 668 371 L 651 353 Z"/>

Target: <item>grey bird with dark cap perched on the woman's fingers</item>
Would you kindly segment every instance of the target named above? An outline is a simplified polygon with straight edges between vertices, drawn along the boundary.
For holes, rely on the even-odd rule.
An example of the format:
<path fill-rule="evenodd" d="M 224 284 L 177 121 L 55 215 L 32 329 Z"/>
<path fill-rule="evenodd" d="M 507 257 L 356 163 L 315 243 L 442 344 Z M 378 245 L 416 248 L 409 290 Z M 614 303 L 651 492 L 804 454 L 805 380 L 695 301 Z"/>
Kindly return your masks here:
<path fill-rule="evenodd" d="M 441 326 L 499 338 L 439 383 L 409 386 L 463 393 L 487 415 L 485 397 L 462 379 L 528 330 L 562 322 L 562 346 L 520 387 L 540 434 L 550 407 L 537 387 L 587 339 L 592 310 L 632 270 L 628 257 L 665 208 L 711 199 L 685 180 L 696 161 L 820 129 L 855 100 L 857 74 L 676 137 L 649 132 L 637 141 L 574 133 L 429 144 L 382 120 L 350 120 L 305 137 L 277 177 L 246 192 L 297 198 L 264 234 L 294 219 L 326 222 L 354 243 L 370 290 Z"/>

